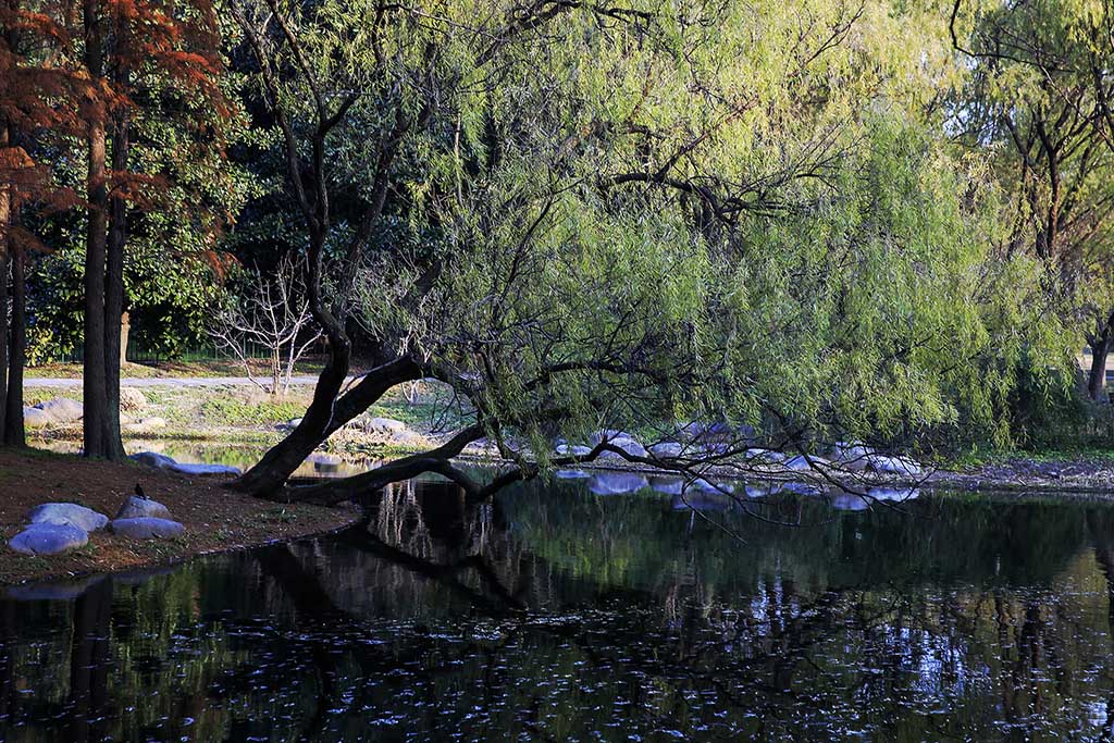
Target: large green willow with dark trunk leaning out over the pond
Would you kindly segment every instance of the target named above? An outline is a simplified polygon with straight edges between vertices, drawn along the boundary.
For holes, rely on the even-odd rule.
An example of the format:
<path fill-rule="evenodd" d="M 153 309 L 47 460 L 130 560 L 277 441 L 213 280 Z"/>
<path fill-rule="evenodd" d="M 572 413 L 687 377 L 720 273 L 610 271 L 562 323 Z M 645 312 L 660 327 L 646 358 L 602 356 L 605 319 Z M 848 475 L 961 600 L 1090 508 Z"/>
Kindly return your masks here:
<path fill-rule="evenodd" d="M 944 19 L 808 6 L 237 6 L 330 356 L 234 487 L 329 502 L 437 471 L 482 496 L 451 463 L 480 438 L 516 463 L 498 485 L 597 428 L 712 418 L 804 447 L 993 418 L 1028 274 L 995 261 L 983 172 L 931 134 Z M 342 393 L 354 322 L 375 364 Z M 441 446 L 285 487 L 423 377 L 468 403 Z"/>

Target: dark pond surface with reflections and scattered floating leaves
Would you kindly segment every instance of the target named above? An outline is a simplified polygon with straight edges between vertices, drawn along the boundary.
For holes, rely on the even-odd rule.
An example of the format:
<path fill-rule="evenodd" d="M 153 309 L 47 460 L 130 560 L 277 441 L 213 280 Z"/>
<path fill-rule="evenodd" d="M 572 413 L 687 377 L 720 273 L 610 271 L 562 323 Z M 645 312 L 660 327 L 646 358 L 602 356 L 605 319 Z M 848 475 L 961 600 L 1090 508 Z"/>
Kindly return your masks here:
<path fill-rule="evenodd" d="M 1103 740 L 1114 508 L 584 481 L 0 600 L 4 741 Z"/>

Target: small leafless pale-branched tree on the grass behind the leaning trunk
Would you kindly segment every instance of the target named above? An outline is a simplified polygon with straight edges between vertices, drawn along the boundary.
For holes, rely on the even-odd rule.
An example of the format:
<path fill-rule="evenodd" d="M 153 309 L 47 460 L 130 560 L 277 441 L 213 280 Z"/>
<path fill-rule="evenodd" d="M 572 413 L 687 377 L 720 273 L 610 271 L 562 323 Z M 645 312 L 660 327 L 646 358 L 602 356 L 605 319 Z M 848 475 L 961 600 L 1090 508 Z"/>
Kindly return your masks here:
<path fill-rule="evenodd" d="M 272 275 L 254 272 L 245 291 L 216 314 L 208 331 L 218 349 L 240 361 L 252 383 L 275 397 L 286 394 L 299 360 L 323 334 L 312 322 L 303 274 L 304 268 L 289 256 Z M 267 351 L 270 382 L 252 370 L 253 346 Z"/>

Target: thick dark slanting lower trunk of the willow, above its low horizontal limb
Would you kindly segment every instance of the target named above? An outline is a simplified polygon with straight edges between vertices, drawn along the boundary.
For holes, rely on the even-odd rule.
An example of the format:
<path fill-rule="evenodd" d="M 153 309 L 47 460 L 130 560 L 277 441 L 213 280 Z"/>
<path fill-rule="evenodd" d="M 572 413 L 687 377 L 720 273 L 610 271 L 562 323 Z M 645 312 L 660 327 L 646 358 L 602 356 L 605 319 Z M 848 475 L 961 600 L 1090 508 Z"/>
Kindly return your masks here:
<path fill-rule="evenodd" d="M 341 373 L 339 381 L 335 379 L 335 371 L 330 370 L 331 364 L 326 364 L 321 372 L 313 404 L 306 411 L 302 423 L 291 431 L 290 436 L 272 447 L 257 465 L 233 482 L 233 489 L 264 498 L 280 498 L 286 480 L 322 441 L 365 411 L 369 405 L 395 384 L 422 377 L 422 370 L 410 356 L 402 356 L 377 366 L 340 400 L 328 401 L 328 408 L 324 410 L 328 419 L 322 428 L 316 428 L 316 424 L 307 426 L 306 421 L 310 419 L 311 412 L 317 414 L 321 412 L 319 394 L 323 389 L 326 389 L 325 385 L 332 388 L 335 384 L 335 390 L 340 390 L 348 371 L 346 358 L 344 361 L 344 372 Z M 328 379 L 326 373 L 330 374 Z M 335 391 L 332 394 L 335 398 Z"/>

